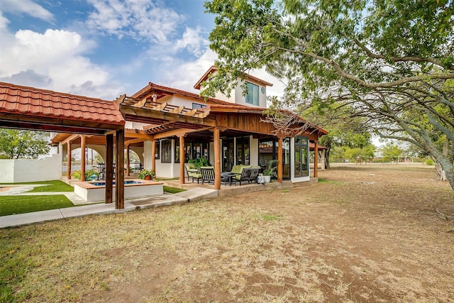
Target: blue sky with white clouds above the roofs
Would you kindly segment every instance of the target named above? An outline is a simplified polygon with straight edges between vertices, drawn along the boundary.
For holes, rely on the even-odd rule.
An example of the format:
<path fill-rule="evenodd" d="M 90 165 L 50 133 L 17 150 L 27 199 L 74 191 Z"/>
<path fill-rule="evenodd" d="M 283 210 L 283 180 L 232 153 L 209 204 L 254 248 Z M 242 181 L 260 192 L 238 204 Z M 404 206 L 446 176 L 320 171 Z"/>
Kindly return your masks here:
<path fill-rule="evenodd" d="M 0 81 L 106 100 L 148 82 L 198 93 L 216 60 L 204 11 L 204 0 L 0 0 Z"/>

